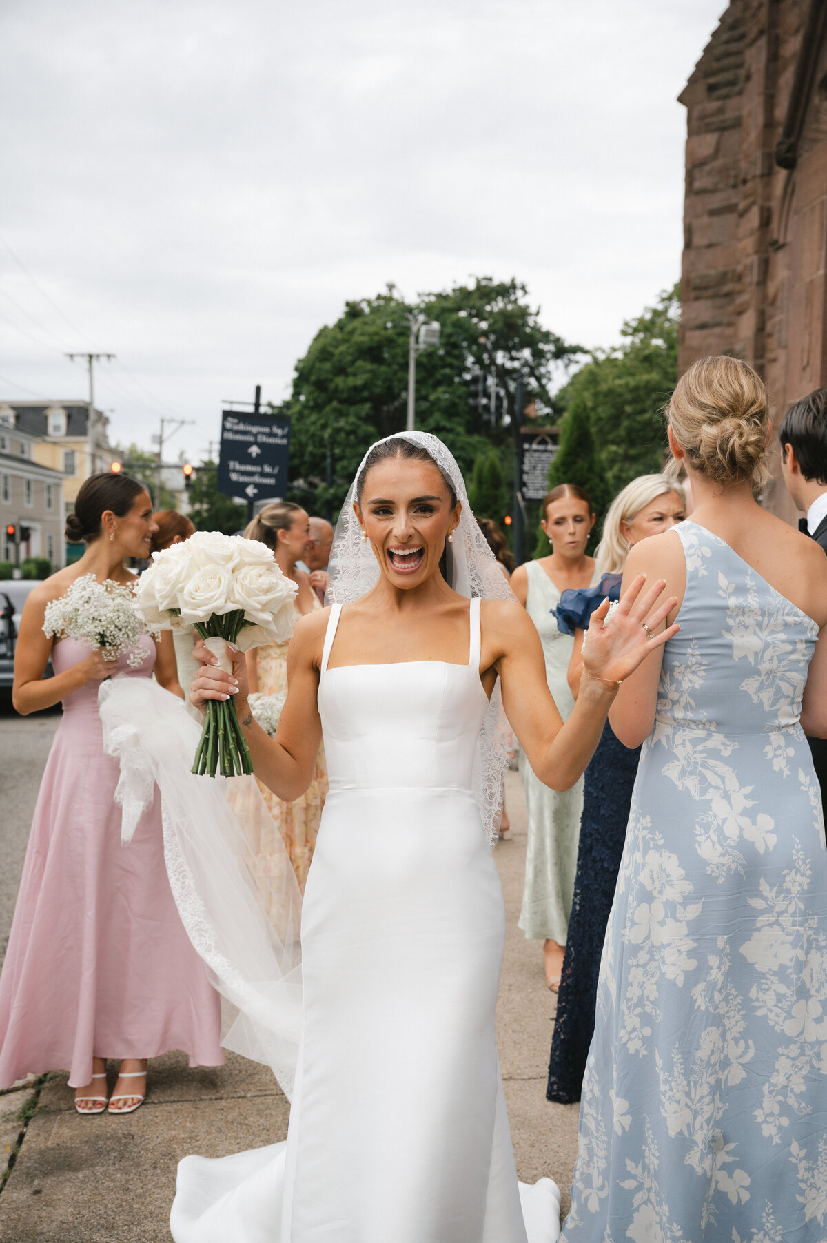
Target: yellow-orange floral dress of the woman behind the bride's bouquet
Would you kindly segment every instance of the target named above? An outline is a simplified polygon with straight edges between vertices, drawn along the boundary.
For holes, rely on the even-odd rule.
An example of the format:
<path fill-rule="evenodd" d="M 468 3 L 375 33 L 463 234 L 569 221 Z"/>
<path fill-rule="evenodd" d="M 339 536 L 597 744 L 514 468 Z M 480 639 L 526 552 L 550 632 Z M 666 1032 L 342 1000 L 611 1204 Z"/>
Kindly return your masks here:
<path fill-rule="evenodd" d="M 313 612 L 321 608 L 313 594 Z M 296 618 L 301 613 L 296 609 Z M 262 695 L 281 695 L 287 691 L 287 644 L 272 643 L 256 649 L 256 671 L 259 691 Z M 322 818 L 325 797 L 327 794 L 327 766 L 325 745 L 320 746 L 316 768 L 307 791 L 292 803 L 282 803 L 271 789 L 259 782 L 259 788 L 272 817 L 272 823 L 281 834 L 290 861 L 293 865 L 298 888 L 305 892 L 307 870 L 313 858 L 316 834 Z M 267 859 L 272 856 L 272 868 L 277 873 L 281 851 L 275 851 L 272 843 L 259 843 L 259 856 L 265 871 L 269 871 Z"/>

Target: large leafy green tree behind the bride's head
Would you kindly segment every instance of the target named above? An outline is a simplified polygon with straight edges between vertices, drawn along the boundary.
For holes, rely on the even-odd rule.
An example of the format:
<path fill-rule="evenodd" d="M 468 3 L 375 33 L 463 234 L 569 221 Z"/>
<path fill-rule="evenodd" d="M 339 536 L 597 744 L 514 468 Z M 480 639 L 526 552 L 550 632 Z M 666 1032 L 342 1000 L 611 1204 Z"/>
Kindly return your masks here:
<path fill-rule="evenodd" d="M 417 428 L 444 439 L 464 472 L 507 439 L 502 415 L 511 414 L 516 373 L 527 377 L 526 400 L 534 395 L 556 409 L 552 373 L 582 352 L 541 327 L 515 280 L 478 277 L 413 306 L 392 287 L 348 302 L 296 364 L 291 397 L 279 409 L 292 419 L 291 500 L 335 517 L 371 441 L 404 429 L 412 312 L 441 327 L 439 347 L 423 351 L 417 363 Z M 497 394 L 494 424 L 476 400 L 480 374 Z"/>

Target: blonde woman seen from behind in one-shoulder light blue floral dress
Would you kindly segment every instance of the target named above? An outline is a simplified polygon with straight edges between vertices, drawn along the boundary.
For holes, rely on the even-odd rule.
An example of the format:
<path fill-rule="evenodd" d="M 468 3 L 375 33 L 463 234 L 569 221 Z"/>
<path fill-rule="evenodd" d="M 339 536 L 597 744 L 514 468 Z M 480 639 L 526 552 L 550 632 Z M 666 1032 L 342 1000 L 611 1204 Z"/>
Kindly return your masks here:
<path fill-rule="evenodd" d="M 562 1239 L 823 1243 L 827 854 L 802 721 L 827 735 L 827 561 L 752 500 L 751 368 L 700 359 L 669 424 L 695 512 L 627 580 L 663 577 L 680 631 L 611 713 L 645 741 Z"/>

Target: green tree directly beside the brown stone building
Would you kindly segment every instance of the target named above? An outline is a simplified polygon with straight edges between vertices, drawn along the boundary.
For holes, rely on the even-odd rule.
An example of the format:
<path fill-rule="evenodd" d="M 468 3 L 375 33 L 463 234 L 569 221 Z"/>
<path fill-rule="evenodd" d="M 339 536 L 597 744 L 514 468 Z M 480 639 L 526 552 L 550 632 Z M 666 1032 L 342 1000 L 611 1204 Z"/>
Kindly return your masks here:
<path fill-rule="evenodd" d="M 568 414 L 587 414 L 609 493 L 660 470 L 667 434 L 660 411 L 678 382 L 680 288 L 621 329 L 622 344 L 594 351 L 557 397 Z"/>

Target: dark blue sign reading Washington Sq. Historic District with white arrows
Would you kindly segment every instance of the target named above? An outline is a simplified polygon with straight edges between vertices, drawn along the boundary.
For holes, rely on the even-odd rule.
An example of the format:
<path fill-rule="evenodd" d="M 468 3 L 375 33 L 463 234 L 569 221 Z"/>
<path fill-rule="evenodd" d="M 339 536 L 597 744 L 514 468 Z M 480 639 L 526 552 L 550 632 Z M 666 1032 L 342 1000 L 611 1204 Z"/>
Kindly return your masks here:
<path fill-rule="evenodd" d="M 221 414 L 218 490 L 245 501 L 284 496 L 290 462 L 290 419 Z"/>

